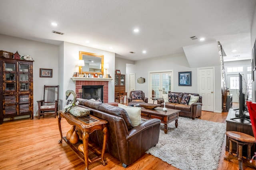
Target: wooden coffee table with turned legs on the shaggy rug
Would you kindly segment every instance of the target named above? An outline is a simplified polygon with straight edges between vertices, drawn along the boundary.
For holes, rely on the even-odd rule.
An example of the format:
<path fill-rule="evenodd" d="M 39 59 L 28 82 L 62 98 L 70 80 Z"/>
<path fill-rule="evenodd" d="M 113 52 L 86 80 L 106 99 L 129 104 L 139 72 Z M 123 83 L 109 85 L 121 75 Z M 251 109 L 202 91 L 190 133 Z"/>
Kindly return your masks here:
<path fill-rule="evenodd" d="M 155 109 L 145 109 L 141 107 L 141 117 L 144 119 L 160 119 L 164 123 L 164 133 L 167 133 L 167 124 L 175 120 L 175 127 L 178 127 L 178 118 L 180 110 L 167 109 L 163 111 L 163 107 L 156 107 Z"/>

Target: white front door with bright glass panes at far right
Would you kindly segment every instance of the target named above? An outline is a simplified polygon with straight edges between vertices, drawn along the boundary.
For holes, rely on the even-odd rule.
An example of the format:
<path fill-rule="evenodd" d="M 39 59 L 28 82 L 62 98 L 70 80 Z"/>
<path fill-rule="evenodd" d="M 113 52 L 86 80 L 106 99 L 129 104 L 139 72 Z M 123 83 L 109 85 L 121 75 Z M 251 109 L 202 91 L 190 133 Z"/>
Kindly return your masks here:
<path fill-rule="evenodd" d="M 238 102 L 239 96 L 239 77 L 238 74 L 227 75 L 227 86 L 232 96 L 232 102 Z"/>

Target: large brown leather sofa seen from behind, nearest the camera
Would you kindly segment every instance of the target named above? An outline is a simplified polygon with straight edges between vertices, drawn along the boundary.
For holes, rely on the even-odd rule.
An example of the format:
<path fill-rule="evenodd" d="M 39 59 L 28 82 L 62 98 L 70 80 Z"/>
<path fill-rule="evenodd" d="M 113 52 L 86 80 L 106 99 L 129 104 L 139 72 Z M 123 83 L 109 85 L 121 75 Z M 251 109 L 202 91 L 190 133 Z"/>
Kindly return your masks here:
<path fill-rule="evenodd" d="M 132 127 L 126 110 L 120 107 L 80 98 L 76 100 L 80 102 L 79 106 L 90 109 L 91 115 L 108 121 L 106 151 L 120 160 L 124 168 L 158 143 L 159 119 L 142 121 L 140 125 Z M 102 131 L 94 131 L 90 134 L 90 139 L 102 147 Z"/>

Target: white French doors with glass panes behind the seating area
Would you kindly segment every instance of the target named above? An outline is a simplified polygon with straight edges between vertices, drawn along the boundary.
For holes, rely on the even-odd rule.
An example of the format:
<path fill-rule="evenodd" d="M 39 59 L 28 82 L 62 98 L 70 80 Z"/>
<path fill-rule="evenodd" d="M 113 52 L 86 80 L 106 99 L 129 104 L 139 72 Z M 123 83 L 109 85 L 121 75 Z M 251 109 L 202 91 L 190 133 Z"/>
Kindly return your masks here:
<path fill-rule="evenodd" d="M 149 98 L 162 98 L 163 94 L 173 91 L 173 71 L 150 72 Z"/>

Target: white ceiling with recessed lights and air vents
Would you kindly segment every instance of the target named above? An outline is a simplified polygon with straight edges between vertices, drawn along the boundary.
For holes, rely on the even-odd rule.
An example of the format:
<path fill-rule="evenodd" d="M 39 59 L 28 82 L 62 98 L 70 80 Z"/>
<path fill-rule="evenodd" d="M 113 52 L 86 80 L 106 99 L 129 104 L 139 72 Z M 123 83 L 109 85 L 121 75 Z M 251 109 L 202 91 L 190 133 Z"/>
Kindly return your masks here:
<path fill-rule="evenodd" d="M 234 61 L 251 59 L 250 29 L 255 3 L 256 0 L 0 0 L 0 33 L 55 45 L 67 41 L 134 61 L 183 53 L 182 47 L 216 40 L 227 55 L 224 61 Z M 58 26 L 52 26 L 52 22 Z M 140 31 L 134 33 L 134 28 Z M 64 35 L 54 34 L 53 30 Z M 198 39 L 191 40 L 192 36 Z M 204 42 L 199 41 L 201 37 Z M 237 51 L 232 52 L 233 49 Z M 143 50 L 147 52 L 144 54 Z"/>

